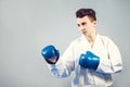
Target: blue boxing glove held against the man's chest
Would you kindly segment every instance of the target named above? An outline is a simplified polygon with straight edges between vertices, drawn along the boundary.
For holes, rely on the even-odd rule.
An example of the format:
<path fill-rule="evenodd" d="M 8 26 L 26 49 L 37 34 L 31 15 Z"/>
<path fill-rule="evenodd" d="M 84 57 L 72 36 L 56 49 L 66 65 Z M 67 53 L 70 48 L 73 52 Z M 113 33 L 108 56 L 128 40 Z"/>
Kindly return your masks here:
<path fill-rule="evenodd" d="M 86 54 L 81 54 L 79 59 L 79 65 L 84 69 L 96 70 L 100 64 L 100 58 L 92 53 L 91 51 L 87 51 Z"/>

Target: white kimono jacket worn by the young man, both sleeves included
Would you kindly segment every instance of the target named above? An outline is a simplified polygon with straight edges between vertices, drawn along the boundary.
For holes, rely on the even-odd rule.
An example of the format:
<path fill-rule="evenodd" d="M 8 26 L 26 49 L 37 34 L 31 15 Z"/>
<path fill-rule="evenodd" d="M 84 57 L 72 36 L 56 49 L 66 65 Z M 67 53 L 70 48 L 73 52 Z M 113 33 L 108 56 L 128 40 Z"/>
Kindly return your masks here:
<path fill-rule="evenodd" d="M 95 71 L 82 69 L 78 63 L 80 54 L 88 50 L 100 57 Z M 122 62 L 117 46 L 98 34 L 92 48 L 81 36 L 69 45 L 56 64 L 49 64 L 49 67 L 56 77 L 67 77 L 75 72 L 72 87 L 108 87 L 113 84 L 112 74 L 122 70 Z"/>

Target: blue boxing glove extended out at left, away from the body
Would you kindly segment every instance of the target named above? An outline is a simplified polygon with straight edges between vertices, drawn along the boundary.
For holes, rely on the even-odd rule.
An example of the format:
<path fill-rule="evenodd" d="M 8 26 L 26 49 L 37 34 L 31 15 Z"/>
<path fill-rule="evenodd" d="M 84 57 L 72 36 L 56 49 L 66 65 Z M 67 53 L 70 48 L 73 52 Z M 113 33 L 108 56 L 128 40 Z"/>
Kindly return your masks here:
<path fill-rule="evenodd" d="M 58 50 L 56 50 L 55 47 L 52 46 L 52 45 L 44 47 L 44 48 L 41 50 L 41 54 L 42 54 L 42 57 L 44 58 L 44 60 L 46 60 L 49 64 L 55 64 L 56 61 L 57 61 L 58 58 L 60 58 L 60 52 L 58 52 Z M 51 61 L 51 59 L 56 59 L 56 61 L 53 62 L 53 61 Z"/>

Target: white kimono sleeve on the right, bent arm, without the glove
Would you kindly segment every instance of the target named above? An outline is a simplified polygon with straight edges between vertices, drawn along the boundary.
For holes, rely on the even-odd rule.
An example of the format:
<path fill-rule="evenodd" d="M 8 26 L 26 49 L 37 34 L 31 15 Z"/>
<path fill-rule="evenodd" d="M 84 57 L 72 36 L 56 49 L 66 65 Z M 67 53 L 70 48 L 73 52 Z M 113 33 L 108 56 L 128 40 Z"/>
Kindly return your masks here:
<path fill-rule="evenodd" d="M 96 72 L 104 74 L 121 72 L 122 61 L 118 47 L 110 39 L 107 38 L 107 44 L 105 44 L 105 48 L 107 50 L 107 59 L 100 60 Z"/>

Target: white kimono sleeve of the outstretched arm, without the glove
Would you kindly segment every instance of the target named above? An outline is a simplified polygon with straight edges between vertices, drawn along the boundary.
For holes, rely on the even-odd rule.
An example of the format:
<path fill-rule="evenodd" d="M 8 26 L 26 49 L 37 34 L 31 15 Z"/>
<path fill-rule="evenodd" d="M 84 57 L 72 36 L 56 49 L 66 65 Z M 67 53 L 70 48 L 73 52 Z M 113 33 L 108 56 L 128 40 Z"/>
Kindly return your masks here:
<path fill-rule="evenodd" d="M 60 60 L 55 64 L 49 64 L 51 73 L 56 77 L 67 77 L 74 71 L 74 54 L 73 46 L 70 44 L 65 52 L 60 57 Z"/>

